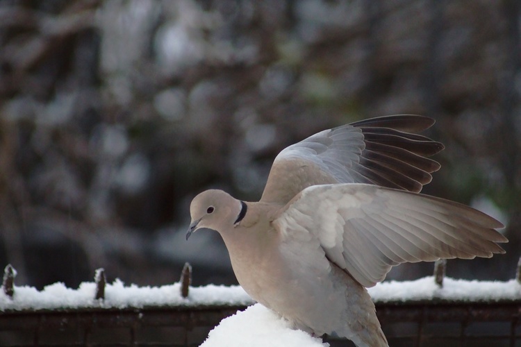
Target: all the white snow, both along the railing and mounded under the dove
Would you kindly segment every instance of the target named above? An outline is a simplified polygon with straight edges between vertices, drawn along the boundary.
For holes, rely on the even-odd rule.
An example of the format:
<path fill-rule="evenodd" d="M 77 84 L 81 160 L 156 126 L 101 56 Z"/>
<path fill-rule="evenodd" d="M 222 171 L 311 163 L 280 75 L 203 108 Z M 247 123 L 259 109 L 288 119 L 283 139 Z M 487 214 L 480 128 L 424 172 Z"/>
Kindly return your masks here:
<path fill-rule="evenodd" d="M 438 287 L 433 276 L 413 281 L 379 283 L 369 290 L 375 303 L 406 301 L 521 301 L 521 284 L 508 282 L 455 280 L 445 278 Z M 124 285 L 115 280 L 105 287 L 105 299 L 95 299 L 96 284 L 83 282 L 78 289 L 54 283 L 38 291 L 15 286 L 10 298 L 0 291 L 0 312 L 9 310 L 67 310 L 74 308 L 127 308 L 201 305 L 252 305 L 254 301 L 242 287 L 207 285 L 190 287 L 188 298 L 181 296 L 181 284 L 161 287 Z M 329 346 L 320 338 L 292 330 L 290 323 L 260 304 L 223 319 L 202 345 L 214 346 Z"/>

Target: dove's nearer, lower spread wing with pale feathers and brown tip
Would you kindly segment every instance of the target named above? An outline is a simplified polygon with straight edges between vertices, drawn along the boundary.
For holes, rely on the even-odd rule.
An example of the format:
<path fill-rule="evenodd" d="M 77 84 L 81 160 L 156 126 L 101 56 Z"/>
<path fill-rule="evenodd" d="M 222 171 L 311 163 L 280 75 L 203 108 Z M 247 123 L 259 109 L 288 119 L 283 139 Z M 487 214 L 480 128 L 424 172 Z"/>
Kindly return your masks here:
<path fill-rule="evenodd" d="M 403 262 L 504 253 L 503 225 L 442 198 L 365 184 L 315 185 L 295 196 L 273 221 L 283 242 L 307 235 L 330 262 L 364 285 Z M 313 256 L 302 254 L 301 256 Z"/>

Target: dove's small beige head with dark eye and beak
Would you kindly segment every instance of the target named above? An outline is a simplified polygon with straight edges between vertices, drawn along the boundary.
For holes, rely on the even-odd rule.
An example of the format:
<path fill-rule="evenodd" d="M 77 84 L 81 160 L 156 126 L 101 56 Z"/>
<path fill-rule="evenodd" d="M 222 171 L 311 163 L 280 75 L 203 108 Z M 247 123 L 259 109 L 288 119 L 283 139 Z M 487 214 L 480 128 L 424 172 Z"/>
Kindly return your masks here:
<path fill-rule="evenodd" d="M 200 228 L 224 232 L 233 228 L 244 203 L 222 190 L 210 189 L 197 195 L 190 204 L 190 227 L 186 239 Z"/>

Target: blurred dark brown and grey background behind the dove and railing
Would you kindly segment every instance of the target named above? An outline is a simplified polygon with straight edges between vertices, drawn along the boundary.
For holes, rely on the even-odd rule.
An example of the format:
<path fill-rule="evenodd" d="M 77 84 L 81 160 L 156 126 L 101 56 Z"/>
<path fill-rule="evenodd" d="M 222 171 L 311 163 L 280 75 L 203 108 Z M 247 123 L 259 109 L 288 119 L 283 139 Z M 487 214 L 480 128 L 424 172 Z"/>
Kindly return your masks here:
<path fill-rule="evenodd" d="M 516 0 L 1 0 L 0 265 L 17 285 L 233 284 L 210 187 L 256 201 L 281 149 L 427 115 L 446 146 L 424 193 L 506 223 L 506 255 L 447 276 L 507 280 L 521 250 Z M 402 265 L 388 278 L 431 274 Z"/>

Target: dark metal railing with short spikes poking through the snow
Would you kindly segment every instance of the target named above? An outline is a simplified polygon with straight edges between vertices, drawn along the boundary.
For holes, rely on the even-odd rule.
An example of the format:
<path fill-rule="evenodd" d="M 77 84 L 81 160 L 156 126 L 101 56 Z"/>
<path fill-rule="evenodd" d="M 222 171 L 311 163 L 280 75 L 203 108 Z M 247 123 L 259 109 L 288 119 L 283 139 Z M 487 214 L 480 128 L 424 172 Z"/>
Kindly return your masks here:
<path fill-rule="evenodd" d="M 521 266 L 521 260 L 520 260 Z M 435 266 L 443 286 L 445 263 Z M 517 280 L 521 285 L 518 266 Z M 16 295 L 15 271 L 8 265 L 3 292 Z M 104 299 L 104 271 L 94 276 L 95 297 Z M 189 296 L 191 268 L 181 275 L 181 295 Z M 499 301 L 375 302 L 391 346 L 521 346 L 521 296 Z M 84 307 L 0 312 L 0 346 L 198 346 L 224 317 L 246 305 L 163 305 Z M 332 347 L 346 341 L 327 339 Z"/>

